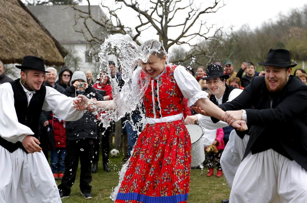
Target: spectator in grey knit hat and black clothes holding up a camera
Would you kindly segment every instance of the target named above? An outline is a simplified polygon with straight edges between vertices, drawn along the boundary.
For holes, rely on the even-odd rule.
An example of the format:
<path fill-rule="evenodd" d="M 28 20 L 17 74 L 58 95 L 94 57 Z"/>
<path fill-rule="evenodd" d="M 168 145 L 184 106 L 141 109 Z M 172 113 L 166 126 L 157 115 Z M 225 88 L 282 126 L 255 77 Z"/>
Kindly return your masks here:
<path fill-rule="evenodd" d="M 87 84 L 87 79 L 82 71 L 75 71 L 70 81 L 70 86 L 66 88 L 67 96 L 76 97 L 79 94 L 87 98 L 104 100 L 92 86 Z M 84 113 L 83 117 L 77 121 L 66 122 L 66 156 L 65 170 L 61 184 L 58 186 L 60 197 L 69 197 L 70 188 L 76 179 L 76 172 L 79 163 L 81 164 L 80 190 L 84 198 L 92 198 L 91 186 L 91 160 L 93 156 L 94 141 L 97 138 L 97 124 L 95 116 Z"/>

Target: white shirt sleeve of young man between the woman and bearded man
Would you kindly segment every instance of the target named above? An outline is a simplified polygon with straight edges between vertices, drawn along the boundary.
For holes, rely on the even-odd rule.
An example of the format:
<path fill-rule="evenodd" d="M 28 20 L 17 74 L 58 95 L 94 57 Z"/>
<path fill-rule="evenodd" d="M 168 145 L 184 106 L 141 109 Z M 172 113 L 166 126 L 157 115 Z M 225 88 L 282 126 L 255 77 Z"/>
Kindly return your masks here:
<path fill-rule="evenodd" d="M 239 96 L 239 94 L 241 94 L 241 92 L 243 92 L 243 90 L 241 90 L 241 89 L 232 90 L 229 94 L 228 101 L 232 101 L 233 99 L 235 99 L 237 96 Z M 224 128 L 224 127 L 228 126 L 228 124 L 224 121 L 219 121 L 217 123 L 213 123 L 211 118 L 208 117 L 208 116 L 203 116 L 201 114 L 196 114 L 196 116 L 198 118 L 197 123 L 200 124 L 200 126 L 206 128 L 208 130 Z M 244 116 L 244 113 L 243 113 L 243 116 Z"/>

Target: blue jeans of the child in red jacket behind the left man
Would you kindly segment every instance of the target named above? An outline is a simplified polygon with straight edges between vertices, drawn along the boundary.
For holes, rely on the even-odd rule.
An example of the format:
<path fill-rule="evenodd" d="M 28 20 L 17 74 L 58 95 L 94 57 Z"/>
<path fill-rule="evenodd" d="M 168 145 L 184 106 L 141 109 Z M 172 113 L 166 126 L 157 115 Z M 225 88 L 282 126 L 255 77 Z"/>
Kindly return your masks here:
<path fill-rule="evenodd" d="M 64 171 L 64 159 L 65 159 L 65 148 L 56 148 L 55 150 L 50 150 L 50 163 L 52 173 L 58 171 Z"/>

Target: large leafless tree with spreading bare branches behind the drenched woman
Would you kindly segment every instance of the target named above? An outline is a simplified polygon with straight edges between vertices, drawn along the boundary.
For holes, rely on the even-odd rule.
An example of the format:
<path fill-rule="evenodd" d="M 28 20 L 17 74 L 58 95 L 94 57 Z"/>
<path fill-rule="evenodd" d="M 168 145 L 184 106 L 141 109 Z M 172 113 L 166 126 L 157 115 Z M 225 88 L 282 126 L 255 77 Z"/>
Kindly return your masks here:
<path fill-rule="evenodd" d="M 91 14 L 90 2 L 88 2 L 88 11 L 80 10 L 77 6 L 72 6 L 74 10 L 78 11 L 76 15 L 77 20 L 84 20 L 84 30 L 82 32 L 87 41 L 91 43 L 102 43 L 103 39 L 95 36 L 87 26 L 86 20 L 91 19 L 97 25 L 107 29 L 111 34 L 129 34 L 132 39 L 141 44 L 139 37 L 142 32 L 147 29 L 154 29 L 159 36 L 159 40 L 163 43 L 166 51 L 169 50 L 174 44 L 182 45 L 187 44 L 193 48 L 184 59 L 187 60 L 191 57 L 199 56 L 201 54 L 208 54 L 208 50 L 195 43 L 199 40 L 215 40 L 216 33 L 221 28 L 215 28 L 215 25 L 209 25 L 204 20 L 205 14 L 216 13 L 221 7 L 225 6 L 223 0 L 214 0 L 210 5 L 204 6 L 202 4 L 196 5 L 193 0 L 150 0 L 146 4 L 146 8 L 142 3 L 136 0 L 114 0 L 116 9 L 111 8 L 110 0 L 105 0 L 101 6 L 107 10 L 106 16 L 101 19 L 95 19 Z M 108 2 L 108 4 L 107 4 Z M 121 12 L 123 7 L 128 7 L 131 12 L 136 14 L 138 23 L 134 28 L 128 27 L 122 23 L 118 13 Z M 204 8 L 206 7 L 206 8 Z M 175 19 L 185 16 L 182 22 L 176 23 Z M 170 29 L 177 28 L 180 30 L 175 37 L 170 36 Z M 214 30 L 215 29 L 215 30 Z M 209 36 L 210 35 L 210 36 Z"/>

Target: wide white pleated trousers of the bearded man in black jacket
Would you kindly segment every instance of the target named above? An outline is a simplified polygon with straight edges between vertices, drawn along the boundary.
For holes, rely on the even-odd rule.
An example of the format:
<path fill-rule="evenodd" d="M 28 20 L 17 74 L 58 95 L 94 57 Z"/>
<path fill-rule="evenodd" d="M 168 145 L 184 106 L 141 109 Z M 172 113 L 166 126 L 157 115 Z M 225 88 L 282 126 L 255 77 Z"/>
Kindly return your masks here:
<path fill-rule="evenodd" d="M 272 149 L 249 153 L 235 174 L 229 199 L 232 203 L 305 203 L 307 171 Z"/>

